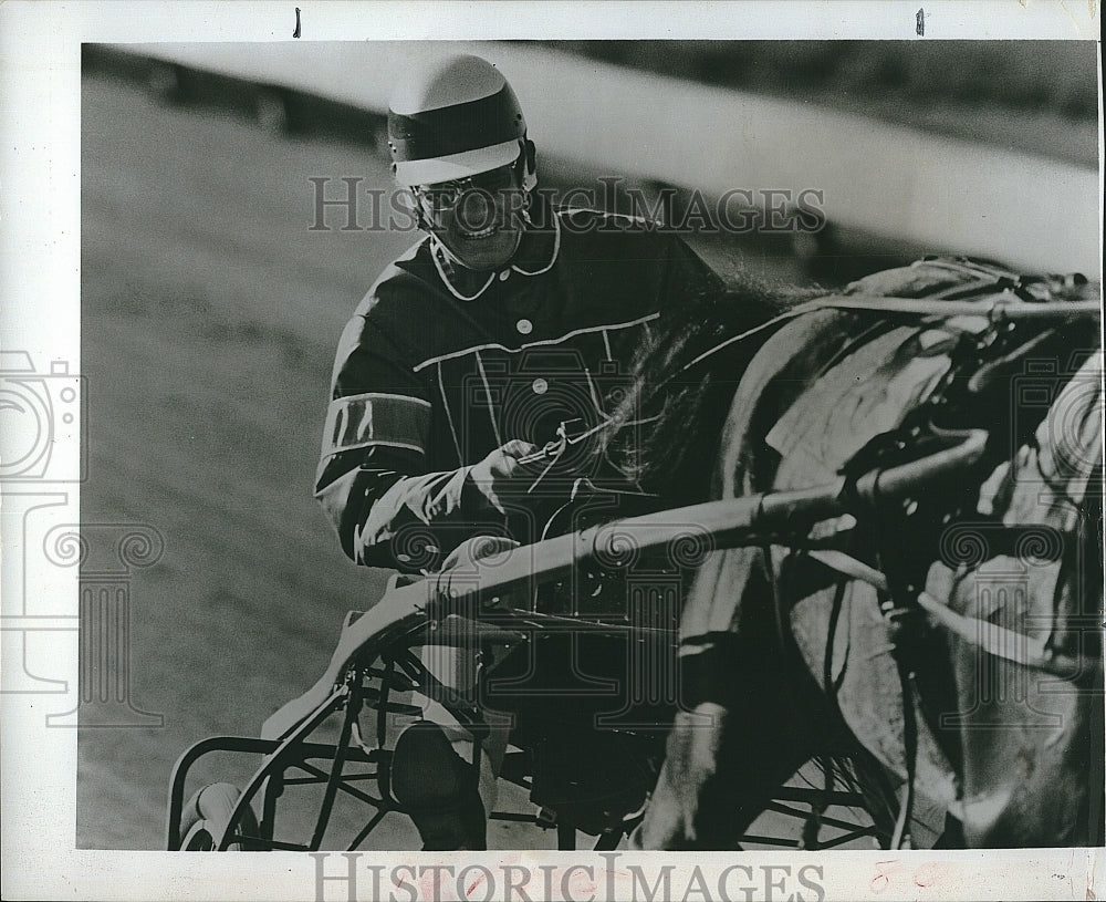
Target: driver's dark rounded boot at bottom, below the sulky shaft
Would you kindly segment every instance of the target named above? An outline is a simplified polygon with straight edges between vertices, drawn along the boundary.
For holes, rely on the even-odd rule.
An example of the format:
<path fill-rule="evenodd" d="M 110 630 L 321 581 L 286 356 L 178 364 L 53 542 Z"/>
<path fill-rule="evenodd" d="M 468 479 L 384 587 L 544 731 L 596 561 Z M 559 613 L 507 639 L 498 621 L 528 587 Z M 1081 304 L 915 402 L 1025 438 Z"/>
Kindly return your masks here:
<path fill-rule="evenodd" d="M 438 724 L 416 720 L 399 734 L 390 784 L 393 797 L 418 828 L 424 851 L 488 848 L 477 771 Z"/>

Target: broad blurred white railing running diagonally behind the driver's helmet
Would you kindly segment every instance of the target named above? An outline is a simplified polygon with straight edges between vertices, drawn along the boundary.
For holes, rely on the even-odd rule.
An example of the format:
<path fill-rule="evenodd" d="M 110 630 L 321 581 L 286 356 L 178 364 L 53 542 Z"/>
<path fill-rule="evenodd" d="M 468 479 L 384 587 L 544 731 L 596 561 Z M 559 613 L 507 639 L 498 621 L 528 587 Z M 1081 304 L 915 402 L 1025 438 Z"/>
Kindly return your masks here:
<path fill-rule="evenodd" d="M 385 111 L 425 43 L 132 44 L 132 52 Z M 541 152 L 712 195 L 814 188 L 828 219 L 935 252 L 1099 278 L 1099 174 L 863 116 L 542 46 L 437 44 L 494 62 Z"/>

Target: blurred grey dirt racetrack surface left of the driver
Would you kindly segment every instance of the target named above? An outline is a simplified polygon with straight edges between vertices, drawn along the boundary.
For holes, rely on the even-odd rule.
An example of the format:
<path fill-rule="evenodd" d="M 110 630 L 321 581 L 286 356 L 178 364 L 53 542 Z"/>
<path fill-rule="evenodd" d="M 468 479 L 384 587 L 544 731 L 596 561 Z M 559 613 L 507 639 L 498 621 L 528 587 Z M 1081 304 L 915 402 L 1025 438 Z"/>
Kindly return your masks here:
<path fill-rule="evenodd" d="M 275 138 L 97 73 L 83 92 L 82 521 L 164 537 L 131 587 L 129 695 L 165 722 L 81 730 L 77 846 L 157 849 L 176 757 L 211 734 L 257 735 L 316 680 L 345 612 L 382 591 L 384 573 L 342 554 L 311 484 L 338 333 L 415 236 L 309 230 L 310 177 L 388 187 L 367 145 Z M 225 760 L 202 779 L 247 774 Z M 417 848 L 392 820 L 380 839 Z M 490 842 L 555 836 L 494 825 Z"/>

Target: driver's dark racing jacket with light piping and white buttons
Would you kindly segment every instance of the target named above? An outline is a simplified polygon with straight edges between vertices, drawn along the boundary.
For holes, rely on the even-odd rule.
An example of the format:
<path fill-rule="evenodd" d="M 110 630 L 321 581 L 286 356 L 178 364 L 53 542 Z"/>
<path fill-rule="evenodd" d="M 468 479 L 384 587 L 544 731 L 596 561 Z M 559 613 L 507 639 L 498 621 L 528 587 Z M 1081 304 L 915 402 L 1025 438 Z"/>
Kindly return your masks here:
<path fill-rule="evenodd" d="M 718 277 L 678 237 L 593 210 L 551 215 L 507 268 L 451 269 L 427 238 L 389 266 L 342 334 L 315 497 L 357 563 L 432 570 L 474 535 L 541 538 L 664 308 Z M 473 464 L 511 439 L 592 433 L 493 508 Z M 536 481 L 536 484 L 535 484 Z"/>

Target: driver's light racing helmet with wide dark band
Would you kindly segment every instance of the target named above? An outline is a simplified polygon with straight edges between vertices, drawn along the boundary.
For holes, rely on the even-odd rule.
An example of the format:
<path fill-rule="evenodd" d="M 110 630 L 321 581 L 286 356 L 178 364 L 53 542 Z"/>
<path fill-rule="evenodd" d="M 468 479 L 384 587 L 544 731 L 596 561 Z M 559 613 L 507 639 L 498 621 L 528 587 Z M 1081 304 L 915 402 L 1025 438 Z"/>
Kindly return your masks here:
<path fill-rule="evenodd" d="M 526 156 L 532 190 L 533 145 L 510 83 L 487 60 L 455 54 L 416 75 L 388 104 L 388 147 L 404 186 L 455 182 Z"/>

